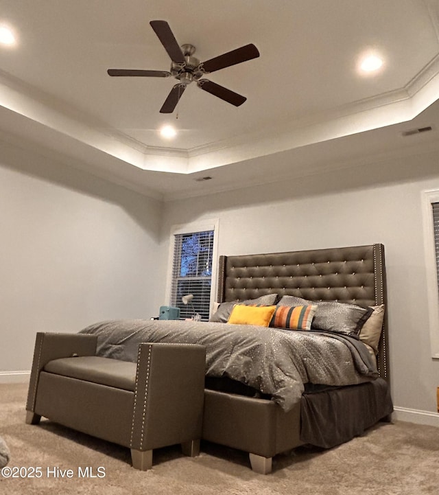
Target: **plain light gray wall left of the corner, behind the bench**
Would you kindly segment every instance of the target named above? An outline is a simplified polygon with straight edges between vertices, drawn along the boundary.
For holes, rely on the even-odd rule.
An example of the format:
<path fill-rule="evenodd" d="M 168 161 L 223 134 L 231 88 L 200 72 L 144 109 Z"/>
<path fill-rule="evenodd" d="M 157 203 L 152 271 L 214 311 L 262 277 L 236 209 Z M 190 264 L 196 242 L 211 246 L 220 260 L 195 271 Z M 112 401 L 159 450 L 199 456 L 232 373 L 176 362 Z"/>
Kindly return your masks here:
<path fill-rule="evenodd" d="M 158 312 L 161 203 L 0 144 L 0 372 L 29 370 L 35 333 Z"/>

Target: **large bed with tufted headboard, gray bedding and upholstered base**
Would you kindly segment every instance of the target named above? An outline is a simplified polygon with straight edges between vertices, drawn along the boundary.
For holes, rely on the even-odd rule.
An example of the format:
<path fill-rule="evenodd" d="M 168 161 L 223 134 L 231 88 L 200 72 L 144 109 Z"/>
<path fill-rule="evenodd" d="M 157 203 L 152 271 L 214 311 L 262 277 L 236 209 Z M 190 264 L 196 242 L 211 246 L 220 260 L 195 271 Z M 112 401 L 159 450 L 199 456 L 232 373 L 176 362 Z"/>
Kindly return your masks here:
<path fill-rule="evenodd" d="M 245 302 L 238 304 L 240 311 L 242 306 L 258 314 L 274 308 L 276 314 L 278 307 L 287 306 L 285 301 L 290 308 L 315 308 L 307 325 L 318 321 L 317 314 L 326 325 L 328 316 L 339 317 L 340 308 L 360 308 L 355 311 L 361 313 L 361 321 L 353 322 L 357 333 L 350 333 L 350 327 L 349 332 L 333 332 L 323 324 L 308 327 L 309 331 L 244 325 L 239 317 L 236 325 L 222 323 L 237 311 L 237 302 Z M 123 360 L 134 360 L 140 341 L 206 345 L 202 438 L 248 452 L 255 472 L 268 474 L 272 458 L 281 452 L 302 444 L 331 448 L 389 419 L 393 408 L 382 244 L 221 256 L 217 303 L 210 322 L 110 321 L 82 332 L 98 335 L 99 355 Z M 375 330 L 375 345 L 367 347 L 361 330 L 372 320 L 375 327 L 378 322 L 379 332 Z M 293 337 L 296 343 L 291 343 Z M 327 354 L 314 348 L 316 341 L 324 342 Z M 242 342 L 244 350 L 239 347 Z M 225 355 L 219 354 L 219 345 L 228 347 Z M 293 371 L 285 347 L 293 353 L 307 349 Z M 342 362 L 348 379 L 344 371 L 337 371 L 335 381 L 326 380 L 323 372 L 332 373 L 333 358 Z M 311 369 L 312 361 L 318 363 L 317 371 Z M 268 367 L 259 370 L 260 362 Z M 281 376 L 278 367 L 283 368 Z"/>

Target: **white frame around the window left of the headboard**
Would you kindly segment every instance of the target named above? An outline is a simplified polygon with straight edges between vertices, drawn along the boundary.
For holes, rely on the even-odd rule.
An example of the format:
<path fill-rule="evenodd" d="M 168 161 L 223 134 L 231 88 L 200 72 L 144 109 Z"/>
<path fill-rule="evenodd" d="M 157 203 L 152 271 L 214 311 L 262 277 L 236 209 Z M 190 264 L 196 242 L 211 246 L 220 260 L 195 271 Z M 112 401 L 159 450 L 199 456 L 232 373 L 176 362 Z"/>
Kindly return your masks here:
<path fill-rule="evenodd" d="M 209 220 L 201 220 L 200 222 L 187 223 L 182 225 L 173 225 L 169 234 L 169 257 L 167 264 L 167 283 L 165 300 L 171 304 L 172 283 L 173 283 L 173 268 L 174 268 L 174 249 L 175 235 L 190 234 L 195 232 L 204 232 L 213 230 L 213 251 L 212 251 L 212 275 L 211 275 L 211 294 L 209 301 L 209 316 L 212 314 L 213 303 L 217 294 L 217 271 L 218 271 L 218 231 L 219 219 L 213 218 Z"/>

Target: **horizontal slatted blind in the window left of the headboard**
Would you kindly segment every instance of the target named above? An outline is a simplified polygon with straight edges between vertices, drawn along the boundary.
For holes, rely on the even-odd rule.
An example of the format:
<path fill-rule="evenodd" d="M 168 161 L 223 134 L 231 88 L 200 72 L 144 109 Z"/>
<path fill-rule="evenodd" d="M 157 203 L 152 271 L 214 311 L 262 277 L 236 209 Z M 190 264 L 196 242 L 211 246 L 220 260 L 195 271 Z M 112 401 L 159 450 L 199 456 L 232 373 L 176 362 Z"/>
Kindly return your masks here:
<path fill-rule="evenodd" d="M 171 306 L 180 308 L 180 318 L 196 313 L 209 319 L 212 284 L 213 230 L 174 235 L 172 262 Z M 185 295 L 193 295 L 189 304 Z"/>

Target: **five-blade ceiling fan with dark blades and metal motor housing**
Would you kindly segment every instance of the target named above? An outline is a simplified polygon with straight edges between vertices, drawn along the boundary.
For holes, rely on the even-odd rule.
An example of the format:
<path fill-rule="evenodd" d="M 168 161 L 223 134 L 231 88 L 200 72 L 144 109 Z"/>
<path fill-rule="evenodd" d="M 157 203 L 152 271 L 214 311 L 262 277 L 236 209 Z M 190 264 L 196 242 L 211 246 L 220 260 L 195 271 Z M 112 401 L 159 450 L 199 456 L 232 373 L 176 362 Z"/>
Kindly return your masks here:
<path fill-rule="evenodd" d="M 199 88 L 232 105 L 239 106 L 247 100 L 246 97 L 230 91 L 230 89 L 220 86 L 216 82 L 204 79 L 203 76 L 204 74 L 230 67 L 230 65 L 240 64 L 241 62 L 259 57 L 257 47 L 253 44 L 245 45 L 244 47 L 228 51 L 226 54 L 206 60 L 206 62 L 200 62 L 198 58 L 193 56 L 195 52 L 193 45 L 178 46 L 176 38 L 166 21 L 150 21 L 150 25 L 171 58 L 171 69 L 169 71 L 108 69 L 109 76 L 137 76 L 143 78 L 169 78 L 169 76 L 174 76 L 180 82 L 171 89 L 165 103 L 160 109 L 160 113 L 174 112 L 180 97 L 187 85 L 192 81 L 196 81 Z"/>

